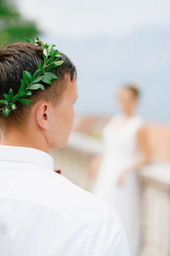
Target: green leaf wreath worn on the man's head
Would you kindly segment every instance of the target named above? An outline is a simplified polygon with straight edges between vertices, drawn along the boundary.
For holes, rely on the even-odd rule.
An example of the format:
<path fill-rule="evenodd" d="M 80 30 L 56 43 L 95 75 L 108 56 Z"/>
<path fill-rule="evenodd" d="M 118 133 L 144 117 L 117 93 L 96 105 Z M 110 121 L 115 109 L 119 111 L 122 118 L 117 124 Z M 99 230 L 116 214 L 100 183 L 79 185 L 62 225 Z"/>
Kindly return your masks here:
<path fill-rule="evenodd" d="M 59 50 L 54 49 L 54 44 L 44 44 L 39 40 L 39 38 L 36 38 L 36 40 L 33 40 L 32 42 L 28 38 L 25 38 L 25 41 L 27 43 L 36 44 L 37 46 L 42 46 L 43 66 L 38 62 L 37 70 L 33 74 L 28 71 L 23 71 L 23 77 L 20 80 L 20 88 L 16 95 L 14 95 L 12 89 L 8 91 L 8 94 L 3 94 L 4 99 L 0 100 L 0 104 L 3 104 L 4 107 L 0 108 L 0 111 L 3 110 L 3 115 L 5 116 L 8 116 L 12 110 L 17 108 L 15 102 L 21 102 L 25 105 L 32 102 L 27 99 L 27 96 L 31 96 L 31 90 L 45 90 L 45 87 L 41 82 L 45 84 L 52 84 L 53 79 L 58 79 L 58 77 L 50 71 L 55 67 L 59 67 L 64 62 L 61 60 Z"/>

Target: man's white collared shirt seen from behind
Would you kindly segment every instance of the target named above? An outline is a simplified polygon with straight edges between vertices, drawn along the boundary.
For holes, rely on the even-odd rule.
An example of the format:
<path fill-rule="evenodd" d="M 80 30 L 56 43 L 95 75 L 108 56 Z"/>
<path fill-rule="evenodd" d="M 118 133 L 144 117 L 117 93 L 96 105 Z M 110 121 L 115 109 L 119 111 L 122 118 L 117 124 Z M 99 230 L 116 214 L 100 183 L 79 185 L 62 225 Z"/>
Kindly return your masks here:
<path fill-rule="evenodd" d="M 1 256 L 128 256 L 111 205 L 54 172 L 35 148 L 0 145 Z"/>

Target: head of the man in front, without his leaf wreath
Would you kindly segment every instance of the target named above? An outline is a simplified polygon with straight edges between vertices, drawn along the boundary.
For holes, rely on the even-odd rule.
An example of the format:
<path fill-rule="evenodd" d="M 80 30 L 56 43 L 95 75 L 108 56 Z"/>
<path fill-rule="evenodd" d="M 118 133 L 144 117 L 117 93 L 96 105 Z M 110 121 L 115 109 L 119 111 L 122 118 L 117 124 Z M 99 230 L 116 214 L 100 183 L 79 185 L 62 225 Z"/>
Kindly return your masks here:
<path fill-rule="evenodd" d="M 32 90 L 27 98 L 32 102 L 24 105 L 17 102 L 17 108 L 8 117 L 0 112 L 0 128 L 12 131 L 14 128 L 32 127 L 41 133 L 50 148 L 65 148 L 74 120 L 73 104 L 77 99 L 77 71 L 69 58 L 61 54 L 64 63 L 53 69 L 58 79 L 53 84 L 43 84 L 45 90 Z M 31 43 L 10 44 L 0 50 L 0 99 L 10 88 L 16 94 L 20 88 L 23 71 L 31 74 L 37 70 L 37 62 L 43 66 L 42 47 Z M 1 106 L 0 106 L 1 107 Z"/>

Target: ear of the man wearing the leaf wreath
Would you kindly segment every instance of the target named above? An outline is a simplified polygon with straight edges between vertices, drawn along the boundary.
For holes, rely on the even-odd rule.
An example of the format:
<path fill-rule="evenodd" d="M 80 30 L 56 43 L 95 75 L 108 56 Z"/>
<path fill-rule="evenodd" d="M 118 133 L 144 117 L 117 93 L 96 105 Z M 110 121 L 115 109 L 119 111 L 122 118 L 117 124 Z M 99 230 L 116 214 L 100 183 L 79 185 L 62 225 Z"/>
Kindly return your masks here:
<path fill-rule="evenodd" d="M 37 106 L 36 117 L 37 124 L 42 127 L 42 129 L 49 129 L 48 122 L 48 112 L 49 112 L 49 104 L 48 102 L 42 102 Z"/>

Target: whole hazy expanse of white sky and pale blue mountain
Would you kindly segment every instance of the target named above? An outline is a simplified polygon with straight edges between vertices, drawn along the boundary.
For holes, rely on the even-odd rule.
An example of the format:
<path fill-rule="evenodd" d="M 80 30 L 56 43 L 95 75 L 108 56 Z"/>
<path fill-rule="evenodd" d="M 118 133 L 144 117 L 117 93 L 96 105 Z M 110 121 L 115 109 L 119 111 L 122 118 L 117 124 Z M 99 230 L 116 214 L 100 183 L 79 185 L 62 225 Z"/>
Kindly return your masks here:
<path fill-rule="evenodd" d="M 76 65 L 78 114 L 116 112 L 113 93 L 134 81 L 140 113 L 169 121 L 170 0 L 14 1 Z"/>

